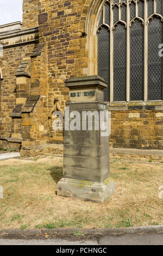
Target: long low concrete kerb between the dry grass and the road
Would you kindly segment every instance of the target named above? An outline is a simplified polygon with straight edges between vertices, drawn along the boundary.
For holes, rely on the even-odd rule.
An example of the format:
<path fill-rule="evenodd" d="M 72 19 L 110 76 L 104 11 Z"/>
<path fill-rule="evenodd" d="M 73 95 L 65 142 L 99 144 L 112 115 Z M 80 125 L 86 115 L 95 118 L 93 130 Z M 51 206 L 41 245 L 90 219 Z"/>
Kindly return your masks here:
<path fill-rule="evenodd" d="M 31 229 L 31 230 L 0 230 L 0 237 L 23 237 L 23 236 L 73 236 L 81 234 L 83 236 L 106 236 L 106 235 L 124 235 L 124 234 L 161 234 L 163 225 L 133 227 L 133 228 L 102 228 L 102 229 L 83 229 L 83 228 L 58 228 L 58 229 Z"/>

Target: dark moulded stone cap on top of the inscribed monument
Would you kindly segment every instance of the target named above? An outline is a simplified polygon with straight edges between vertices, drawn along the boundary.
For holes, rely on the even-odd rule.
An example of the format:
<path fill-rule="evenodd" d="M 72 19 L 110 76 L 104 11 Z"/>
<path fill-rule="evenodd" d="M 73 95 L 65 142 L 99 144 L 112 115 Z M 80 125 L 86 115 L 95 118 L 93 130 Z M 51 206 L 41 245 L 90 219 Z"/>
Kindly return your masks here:
<path fill-rule="evenodd" d="M 102 77 L 94 76 L 81 76 L 81 77 L 72 77 L 68 80 L 65 80 L 65 86 L 73 89 L 79 87 L 98 87 L 105 89 L 108 87 L 109 82 L 106 82 Z"/>

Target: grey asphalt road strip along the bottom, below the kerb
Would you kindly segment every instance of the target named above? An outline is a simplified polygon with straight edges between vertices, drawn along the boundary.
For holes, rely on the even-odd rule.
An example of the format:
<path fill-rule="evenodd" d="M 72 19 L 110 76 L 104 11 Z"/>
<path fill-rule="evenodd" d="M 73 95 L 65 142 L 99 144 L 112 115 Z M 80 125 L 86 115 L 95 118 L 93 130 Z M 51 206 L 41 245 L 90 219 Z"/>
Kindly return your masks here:
<path fill-rule="evenodd" d="M 163 245 L 163 234 L 124 234 L 103 236 L 97 240 L 67 241 L 0 239 L 0 245 Z"/>

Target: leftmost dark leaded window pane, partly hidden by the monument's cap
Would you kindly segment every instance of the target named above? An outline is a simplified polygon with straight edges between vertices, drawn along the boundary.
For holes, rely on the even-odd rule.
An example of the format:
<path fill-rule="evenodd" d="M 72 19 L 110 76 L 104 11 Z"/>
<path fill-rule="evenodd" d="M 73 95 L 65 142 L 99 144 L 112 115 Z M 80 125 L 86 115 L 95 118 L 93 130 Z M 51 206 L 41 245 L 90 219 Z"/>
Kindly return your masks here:
<path fill-rule="evenodd" d="M 110 33 L 102 28 L 98 34 L 98 75 L 110 83 Z M 104 101 L 109 101 L 110 87 L 104 89 Z"/>

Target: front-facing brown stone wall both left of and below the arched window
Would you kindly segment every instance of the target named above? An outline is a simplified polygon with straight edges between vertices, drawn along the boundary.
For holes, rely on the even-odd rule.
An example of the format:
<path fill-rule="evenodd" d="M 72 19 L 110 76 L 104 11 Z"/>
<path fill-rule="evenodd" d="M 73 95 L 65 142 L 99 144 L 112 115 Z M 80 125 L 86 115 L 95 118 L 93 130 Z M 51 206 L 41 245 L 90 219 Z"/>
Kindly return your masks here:
<path fill-rule="evenodd" d="M 39 36 L 47 44 L 48 113 L 54 99 L 61 109 L 68 101 L 64 81 L 73 76 L 84 76 L 88 68 L 86 36 L 82 35 L 91 0 L 41 1 Z M 92 17 L 93 19 L 93 17 Z M 112 111 L 110 145 L 113 148 L 162 149 L 162 112 Z M 49 141 L 62 141 L 62 132 L 49 123 Z"/>

